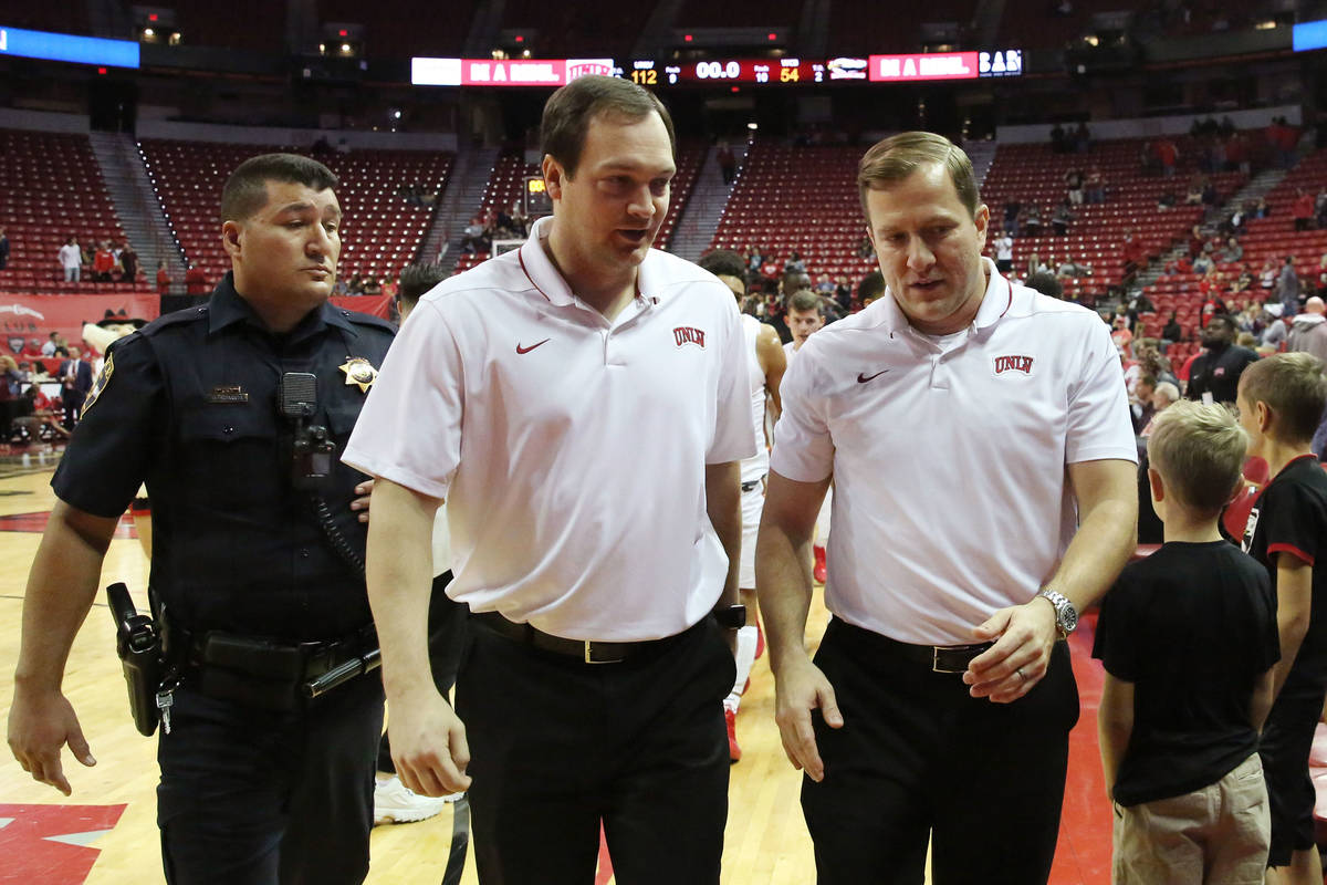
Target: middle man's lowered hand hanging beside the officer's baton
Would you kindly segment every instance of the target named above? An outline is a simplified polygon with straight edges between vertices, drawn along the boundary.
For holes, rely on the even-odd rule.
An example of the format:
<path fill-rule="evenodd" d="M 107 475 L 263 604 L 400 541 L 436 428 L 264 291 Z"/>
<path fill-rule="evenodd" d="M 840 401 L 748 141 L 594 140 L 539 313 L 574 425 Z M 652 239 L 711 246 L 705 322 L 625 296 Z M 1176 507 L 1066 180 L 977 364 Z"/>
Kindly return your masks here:
<path fill-rule="evenodd" d="M 446 796 L 470 788 L 466 726 L 441 694 L 387 702 L 391 762 L 401 783 L 421 796 Z"/>

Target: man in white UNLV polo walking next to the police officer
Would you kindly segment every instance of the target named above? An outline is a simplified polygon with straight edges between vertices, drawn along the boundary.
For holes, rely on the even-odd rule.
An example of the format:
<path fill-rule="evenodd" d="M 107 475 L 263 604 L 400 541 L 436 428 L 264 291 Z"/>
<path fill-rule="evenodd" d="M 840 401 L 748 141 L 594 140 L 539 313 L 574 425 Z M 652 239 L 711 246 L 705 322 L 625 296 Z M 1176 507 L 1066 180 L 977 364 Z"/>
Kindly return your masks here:
<path fill-rule="evenodd" d="M 415 792 L 468 787 L 480 882 L 589 881 L 602 825 L 621 881 L 717 884 L 742 326 L 723 284 L 650 249 L 675 172 L 657 98 L 583 77 L 541 135 L 553 216 L 419 301 L 344 455 L 378 478 L 391 755 Z M 425 641 L 439 499 L 447 593 L 475 613 L 455 713 Z"/>

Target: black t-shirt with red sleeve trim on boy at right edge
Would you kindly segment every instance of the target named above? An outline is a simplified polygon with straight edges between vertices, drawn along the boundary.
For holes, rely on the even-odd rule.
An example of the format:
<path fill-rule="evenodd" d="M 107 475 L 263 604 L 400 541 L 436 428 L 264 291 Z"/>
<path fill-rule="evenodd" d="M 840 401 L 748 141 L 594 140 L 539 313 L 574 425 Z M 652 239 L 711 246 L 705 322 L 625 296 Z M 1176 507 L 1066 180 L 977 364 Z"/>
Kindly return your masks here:
<path fill-rule="evenodd" d="M 1277 586 L 1277 555 L 1289 553 L 1312 567 L 1308 632 L 1290 667 L 1283 695 L 1322 694 L 1327 687 L 1327 472 L 1316 455 L 1286 464 L 1262 490 L 1245 523 L 1245 552 L 1267 567 Z"/>

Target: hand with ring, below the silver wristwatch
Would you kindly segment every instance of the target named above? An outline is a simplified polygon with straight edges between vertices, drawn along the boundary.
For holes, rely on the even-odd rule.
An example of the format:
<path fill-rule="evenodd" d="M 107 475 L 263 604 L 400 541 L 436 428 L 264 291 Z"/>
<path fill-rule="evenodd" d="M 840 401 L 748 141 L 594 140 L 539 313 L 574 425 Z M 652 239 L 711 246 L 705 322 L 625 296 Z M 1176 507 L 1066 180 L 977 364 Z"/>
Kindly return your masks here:
<path fill-rule="evenodd" d="M 995 645 L 973 658 L 963 673 L 974 698 L 995 703 L 1018 701 L 1042 681 L 1059 638 L 1055 606 L 1038 596 L 1031 602 L 1001 609 L 973 630 L 978 642 Z"/>

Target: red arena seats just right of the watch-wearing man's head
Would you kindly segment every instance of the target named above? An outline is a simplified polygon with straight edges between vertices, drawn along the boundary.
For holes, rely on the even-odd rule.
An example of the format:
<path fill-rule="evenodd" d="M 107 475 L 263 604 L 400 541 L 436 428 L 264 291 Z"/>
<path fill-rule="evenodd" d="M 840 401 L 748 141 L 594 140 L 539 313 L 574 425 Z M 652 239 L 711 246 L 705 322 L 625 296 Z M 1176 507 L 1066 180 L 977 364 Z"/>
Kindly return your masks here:
<path fill-rule="evenodd" d="M 1119 285 L 1124 276 L 1124 232 L 1135 231 L 1149 257 L 1157 257 L 1185 238 L 1202 220 L 1202 208 L 1185 206 L 1184 192 L 1190 176 L 1197 171 L 1197 146 L 1188 138 L 1176 139 L 1180 163 L 1173 176 L 1144 175 L 1139 162 L 1144 139 L 1093 142 L 1088 153 L 1056 154 L 1050 145 L 1002 145 L 995 162 L 982 186 L 982 199 L 991 210 L 990 244 L 1005 223 L 1005 203 L 1018 200 L 1024 210 L 1036 204 L 1042 212 L 1042 236 L 1020 236 L 1014 240 L 1014 269 L 1026 276 L 1027 263 L 1035 253 L 1052 268 L 1066 259 L 1082 260 L 1092 268 L 1092 276 L 1070 280 L 1066 293 L 1100 296 L 1109 287 Z M 1074 223 L 1067 236 L 1051 232 L 1051 212 L 1064 199 L 1064 174 L 1071 169 L 1084 172 L 1096 167 L 1107 186 L 1107 200 L 1096 204 L 1074 206 Z M 1210 175 L 1221 200 L 1243 186 L 1241 172 Z M 1181 203 L 1157 210 L 1157 200 L 1173 192 Z M 1156 329 L 1152 330 L 1153 333 Z"/>

